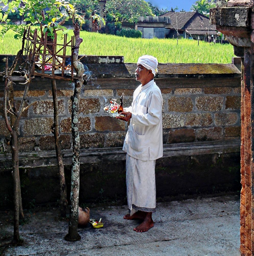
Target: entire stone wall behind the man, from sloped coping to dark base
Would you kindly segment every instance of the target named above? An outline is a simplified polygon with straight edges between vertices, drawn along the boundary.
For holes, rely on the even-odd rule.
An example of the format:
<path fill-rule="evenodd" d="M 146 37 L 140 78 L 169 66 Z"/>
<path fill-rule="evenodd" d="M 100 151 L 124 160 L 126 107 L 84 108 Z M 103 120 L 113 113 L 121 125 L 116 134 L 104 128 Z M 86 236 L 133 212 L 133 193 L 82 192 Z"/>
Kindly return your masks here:
<path fill-rule="evenodd" d="M 127 123 L 103 111 L 124 92 L 124 106 L 132 102 L 138 82 L 133 63 L 123 58 L 83 57 L 87 82 L 81 92 L 80 203 L 125 198 Z M 234 59 L 236 64 L 237 59 Z M 159 64 L 155 81 L 163 97 L 163 157 L 156 161 L 158 200 L 240 189 L 240 77 L 234 64 Z M 0 56 L 1 65 L 4 58 Z M 1 75 L 1 73 L 0 73 Z M 15 96 L 23 86 L 15 81 Z M 73 85 L 56 81 L 61 143 L 68 190 L 70 187 L 70 97 Z M 0 81 L 0 109 L 3 109 Z M 34 78 L 29 104 L 19 129 L 19 165 L 24 204 L 55 202 L 58 198 L 57 162 L 51 81 Z M 3 111 L 0 110 L 0 207 L 11 202 L 11 154 Z M 96 180 L 99 179 L 98 183 Z M 102 194 L 103 191 L 103 194 Z"/>

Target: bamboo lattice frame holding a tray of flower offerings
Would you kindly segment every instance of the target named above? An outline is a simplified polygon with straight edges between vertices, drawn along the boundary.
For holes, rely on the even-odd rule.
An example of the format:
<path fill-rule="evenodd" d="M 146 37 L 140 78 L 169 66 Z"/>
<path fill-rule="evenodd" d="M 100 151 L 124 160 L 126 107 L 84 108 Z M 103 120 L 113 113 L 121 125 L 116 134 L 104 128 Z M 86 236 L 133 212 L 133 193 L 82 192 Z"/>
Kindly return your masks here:
<path fill-rule="evenodd" d="M 44 40 L 43 40 L 44 39 Z M 25 62 L 22 67 L 29 69 L 29 65 L 33 56 L 35 57 L 35 65 L 33 68 L 34 76 L 41 76 L 51 79 L 72 80 L 73 79 L 73 47 L 75 37 L 72 36 L 67 41 L 67 34 L 64 34 L 63 44 L 57 43 L 57 34 L 54 38 L 47 36 L 47 32 L 44 38 L 38 36 L 37 29 L 34 30 L 34 34 L 31 33 L 30 28 L 24 30 L 22 39 L 22 56 Z M 71 63 L 66 65 L 66 48 L 71 47 Z M 50 63 L 49 63 L 50 62 Z M 45 70 L 48 66 L 51 70 Z M 70 77 L 65 77 L 64 74 L 71 73 Z M 56 75 L 56 73 L 58 75 Z"/>

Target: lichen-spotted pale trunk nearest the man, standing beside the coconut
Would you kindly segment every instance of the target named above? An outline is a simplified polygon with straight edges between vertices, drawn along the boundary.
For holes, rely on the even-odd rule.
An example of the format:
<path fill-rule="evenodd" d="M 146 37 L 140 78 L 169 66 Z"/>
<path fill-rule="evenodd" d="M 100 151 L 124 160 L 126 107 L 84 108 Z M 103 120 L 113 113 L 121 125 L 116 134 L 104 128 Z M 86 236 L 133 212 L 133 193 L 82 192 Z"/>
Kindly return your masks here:
<path fill-rule="evenodd" d="M 67 241 L 78 241 L 80 236 L 78 234 L 78 199 L 79 199 L 79 156 L 80 156 L 80 142 L 78 129 L 78 114 L 79 114 L 79 100 L 81 87 L 83 85 L 84 66 L 78 61 L 79 46 L 83 41 L 79 37 L 79 26 L 74 24 L 75 47 L 73 52 L 73 66 L 77 73 L 75 80 L 74 94 L 71 97 L 71 133 L 72 133 L 72 168 L 71 168 L 71 197 L 70 197 L 70 221 L 69 232 L 65 236 Z"/>

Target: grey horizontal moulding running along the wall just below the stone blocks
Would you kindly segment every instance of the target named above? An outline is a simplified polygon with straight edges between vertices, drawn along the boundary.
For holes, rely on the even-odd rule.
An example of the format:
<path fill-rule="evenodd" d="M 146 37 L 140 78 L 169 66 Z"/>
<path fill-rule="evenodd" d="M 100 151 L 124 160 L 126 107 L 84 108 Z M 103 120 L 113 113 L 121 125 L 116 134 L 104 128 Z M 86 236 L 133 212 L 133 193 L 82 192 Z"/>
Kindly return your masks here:
<path fill-rule="evenodd" d="M 163 157 L 191 156 L 200 154 L 222 154 L 240 152 L 240 140 L 191 142 L 163 145 Z M 72 150 L 63 150 L 63 161 L 70 165 Z M 103 161 L 122 161 L 126 153 L 122 147 L 89 148 L 80 150 L 80 163 L 98 163 Z M 19 167 L 39 167 L 57 165 L 55 151 L 33 151 L 19 153 Z M 0 170 L 11 169 L 11 154 L 0 155 Z"/>

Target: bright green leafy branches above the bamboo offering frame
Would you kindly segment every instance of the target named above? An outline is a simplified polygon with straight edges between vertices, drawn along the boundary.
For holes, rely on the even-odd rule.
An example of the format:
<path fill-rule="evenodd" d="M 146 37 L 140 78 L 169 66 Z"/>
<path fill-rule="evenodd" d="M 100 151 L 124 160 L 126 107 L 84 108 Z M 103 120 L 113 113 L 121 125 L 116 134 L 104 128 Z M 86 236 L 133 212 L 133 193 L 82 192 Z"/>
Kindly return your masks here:
<path fill-rule="evenodd" d="M 53 37 L 55 29 L 63 29 L 63 32 L 67 32 L 66 27 L 62 26 L 65 20 L 75 15 L 75 20 L 80 23 L 84 23 L 83 17 L 76 14 L 74 6 L 63 0 L 13 0 L 8 3 L 7 0 L 0 0 L 4 7 L 8 7 L 5 10 L 4 15 L 0 13 L 0 37 L 4 36 L 6 31 L 12 29 L 16 32 L 15 38 L 21 38 L 23 36 L 24 27 L 18 25 L 9 24 L 8 19 L 9 12 L 18 12 L 20 16 L 24 16 L 23 21 L 30 22 L 32 25 L 40 25 L 41 39 L 43 35 L 48 32 L 48 36 Z"/>

